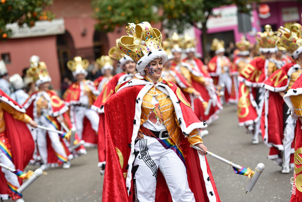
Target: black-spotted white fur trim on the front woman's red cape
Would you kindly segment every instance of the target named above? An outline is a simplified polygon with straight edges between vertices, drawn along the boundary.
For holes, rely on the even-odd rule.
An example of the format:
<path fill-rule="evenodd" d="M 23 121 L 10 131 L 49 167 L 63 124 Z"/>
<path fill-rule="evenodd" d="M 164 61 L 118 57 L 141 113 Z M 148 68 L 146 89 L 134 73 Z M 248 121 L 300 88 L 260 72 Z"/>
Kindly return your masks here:
<path fill-rule="evenodd" d="M 141 110 L 142 110 L 141 105 L 142 105 L 142 102 L 143 102 L 143 97 L 153 87 L 154 83 L 152 83 L 150 81 L 145 81 L 145 80 L 133 79 L 133 80 L 130 80 L 128 83 L 126 83 L 124 86 L 121 86 L 117 90 L 117 93 L 118 93 L 119 91 L 121 91 L 124 88 L 130 87 L 130 86 L 138 86 L 138 85 L 144 85 L 144 87 L 138 93 L 137 102 L 135 104 L 134 120 L 137 120 L 137 122 L 136 122 L 136 124 L 133 125 L 133 132 L 132 132 L 132 138 L 131 138 L 131 153 L 130 153 L 129 160 L 128 160 L 129 168 L 128 168 L 127 178 L 126 178 L 126 187 L 131 187 L 131 180 L 132 180 L 131 170 L 132 170 L 132 164 L 133 164 L 134 159 L 135 159 L 134 141 L 137 138 L 137 133 L 140 129 L 140 116 L 141 116 Z M 162 82 L 159 82 L 159 83 L 155 84 L 155 87 L 159 87 L 159 86 L 161 86 L 159 89 L 162 91 L 162 93 L 165 93 L 167 96 L 170 96 L 170 99 L 171 99 L 171 101 L 174 105 L 176 117 L 177 117 L 178 120 L 179 119 L 182 120 L 179 125 L 180 125 L 180 128 L 181 128 L 183 134 L 189 134 L 194 129 L 205 130 L 207 128 L 207 125 L 204 125 L 202 122 L 192 123 L 191 125 L 186 126 L 185 121 L 183 121 L 184 118 L 182 116 L 182 109 L 180 107 L 180 104 L 178 103 L 178 98 L 175 95 L 175 93 L 172 91 L 171 88 L 169 88 L 168 85 L 165 85 Z M 197 131 L 198 131 L 198 134 L 201 135 L 200 131 L 199 130 L 197 130 Z M 203 172 L 206 172 L 206 171 L 203 170 Z M 207 178 L 204 178 L 204 181 L 207 181 Z M 210 184 L 208 186 L 210 186 Z M 213 187 L 212 187 L 212 189 L 213 189 Z M 129 195 L 129 193 L 128 193 L 128 195 Z"/>

